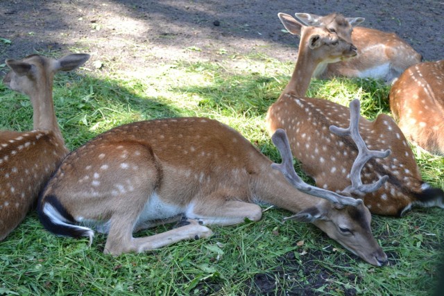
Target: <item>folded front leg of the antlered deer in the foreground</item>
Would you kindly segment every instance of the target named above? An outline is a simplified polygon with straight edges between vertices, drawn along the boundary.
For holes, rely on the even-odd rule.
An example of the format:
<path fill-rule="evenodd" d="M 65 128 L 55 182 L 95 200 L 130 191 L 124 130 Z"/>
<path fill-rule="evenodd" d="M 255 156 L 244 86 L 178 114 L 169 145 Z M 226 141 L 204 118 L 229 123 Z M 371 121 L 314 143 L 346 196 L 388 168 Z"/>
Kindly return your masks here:
<path fill-rule="evenodd" d="M 222 193 L 212 193 L 205 200 L 196 202 L 185 215 L 207 225 L 236 225 L 246 218 L 258 221 L 262 218 L 262 209 L 257 204 L 229 199 Z"/>

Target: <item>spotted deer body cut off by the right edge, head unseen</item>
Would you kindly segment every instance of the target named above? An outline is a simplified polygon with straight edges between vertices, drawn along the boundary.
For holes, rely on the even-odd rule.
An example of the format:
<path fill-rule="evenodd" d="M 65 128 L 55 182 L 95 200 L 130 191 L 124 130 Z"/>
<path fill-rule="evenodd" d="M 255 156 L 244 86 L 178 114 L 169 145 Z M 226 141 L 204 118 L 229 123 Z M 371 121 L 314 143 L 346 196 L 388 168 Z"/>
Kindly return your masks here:
<path fill-rule="evenodd" d="M 388 97 L 407 139 L 444 155 L 444 60 L 409 67 L 393 83 Z"/>

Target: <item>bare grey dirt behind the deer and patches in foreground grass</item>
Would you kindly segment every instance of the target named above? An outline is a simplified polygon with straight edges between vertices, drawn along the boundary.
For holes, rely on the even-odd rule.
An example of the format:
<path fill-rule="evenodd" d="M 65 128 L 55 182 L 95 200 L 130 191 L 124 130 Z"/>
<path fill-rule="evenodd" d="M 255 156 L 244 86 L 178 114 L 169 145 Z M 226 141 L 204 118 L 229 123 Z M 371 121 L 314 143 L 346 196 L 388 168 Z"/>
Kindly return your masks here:
<path fill-rule="evenodd" d="M 0 75 L 6 58 L 53 51 L 90 53 L 88 63 L 100 60 L 103 71 L 174 60 L 229 60 L 234 53 L 294 61 L 298 39 L 282 32 L 278 12 L 365 17 L 363 26 L 398 33 L 425 60 L 444 58 L 444 0 L 0 0 Z M 282 264 L 291 262 L 289 253 Z M 273 290 L 273 281 L 267 275 L 255 278 L 264 294 Z M 323 282 L 310 284 L 316 288 Z"/>

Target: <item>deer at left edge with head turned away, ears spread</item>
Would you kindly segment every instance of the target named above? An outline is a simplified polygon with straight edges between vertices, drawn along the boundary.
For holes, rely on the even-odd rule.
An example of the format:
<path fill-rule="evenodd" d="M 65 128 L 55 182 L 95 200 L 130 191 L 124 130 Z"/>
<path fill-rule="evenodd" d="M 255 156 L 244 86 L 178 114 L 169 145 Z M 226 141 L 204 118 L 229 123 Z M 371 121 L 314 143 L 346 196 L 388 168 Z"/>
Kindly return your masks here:
<path fill-rule="evenodd" d="M 54 113 L 54 74 L 74 70 L 88 58 L 85 54 L 59 60 L 29 55 L 23 60 L 6 60 L 11 71 L 3 83 L 31 99 L 34 130 L 0 131 L 0 240 L 24 219 L 68 153 Z"/>

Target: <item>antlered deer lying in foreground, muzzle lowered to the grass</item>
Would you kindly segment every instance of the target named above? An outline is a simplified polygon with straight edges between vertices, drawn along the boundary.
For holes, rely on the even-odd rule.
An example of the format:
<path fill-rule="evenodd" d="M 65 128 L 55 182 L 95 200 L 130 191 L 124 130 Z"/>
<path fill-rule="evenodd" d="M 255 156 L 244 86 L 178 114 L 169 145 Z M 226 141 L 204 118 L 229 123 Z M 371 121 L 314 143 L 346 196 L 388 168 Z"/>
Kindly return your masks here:
<path fill-rule="evenodd" d="M 283 131 L 276 134 L 282 150 L 286 137 Z M 371 234 L 370 212 L 362 201 L 300 183 L 288 165 L 289 148 L 281 153 L 284 167 L 275 168 L 293 185 L 247 139 L 218 121 L 179 118 L 121 125 L 65 158 L 37 211 L 54 234 L 86 236 L 91 244 L 91 227 L 108 233 L 104 252 L 118 255 L 205 238 L 212 234 L 205 225 L 257 221 L 262 217 L 257 204 L 273 204 L 314 223 L 368 263 L 384 265 L 386 254 Z M 133 237 L 140 229 L 182 217 L 187 225 Z"/>

